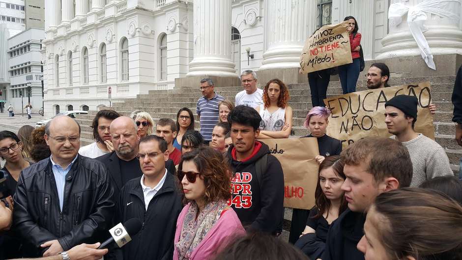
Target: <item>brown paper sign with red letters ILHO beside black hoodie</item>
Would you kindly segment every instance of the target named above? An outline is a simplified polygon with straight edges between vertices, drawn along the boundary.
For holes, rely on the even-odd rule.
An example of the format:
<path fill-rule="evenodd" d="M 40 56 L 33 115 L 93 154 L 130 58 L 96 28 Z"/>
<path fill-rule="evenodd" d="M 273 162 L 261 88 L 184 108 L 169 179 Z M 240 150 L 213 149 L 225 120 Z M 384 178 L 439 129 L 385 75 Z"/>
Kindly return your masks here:
<path fill-rule="evenodd" d="M 310 209 L 315 205 L 318 183 L 318 139 L 285 138 L 259 140 L 269 146 L 284 171 L 284 206 Z"/>

